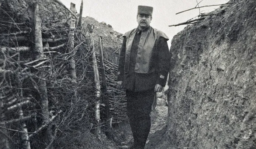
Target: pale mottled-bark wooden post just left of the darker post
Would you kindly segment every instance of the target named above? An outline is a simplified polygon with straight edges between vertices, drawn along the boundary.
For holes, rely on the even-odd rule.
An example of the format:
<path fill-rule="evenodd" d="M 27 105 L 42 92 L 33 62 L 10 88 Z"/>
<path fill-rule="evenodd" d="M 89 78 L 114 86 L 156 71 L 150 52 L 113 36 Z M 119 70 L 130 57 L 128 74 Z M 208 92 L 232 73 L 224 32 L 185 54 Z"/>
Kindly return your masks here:
<path fill-rule="evenodd" d="M 100 124 L 100 76 L 98 74 L 98 65 L 97 59 L 95 54 L 95 47 L 94 47 L 94 33 L 93 33 L 94 26 L 91 26 L 91 50 L 92 50 L 92 59 L 93 59 L 93 71 L 94 71 L 94 81 L 96 84 L 96 101 L 95 101 L 95 119 L 98 124 Z M 101 129 L 100 127 L 96 128 L 96 134 L 100 139 Z"/>

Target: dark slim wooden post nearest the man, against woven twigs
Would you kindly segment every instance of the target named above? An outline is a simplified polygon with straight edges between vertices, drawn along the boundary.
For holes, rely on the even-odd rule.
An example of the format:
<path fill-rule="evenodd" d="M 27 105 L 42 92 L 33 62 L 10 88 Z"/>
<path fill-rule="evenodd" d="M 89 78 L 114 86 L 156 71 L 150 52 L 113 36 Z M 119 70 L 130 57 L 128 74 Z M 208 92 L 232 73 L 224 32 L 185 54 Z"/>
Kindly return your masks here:
<path fill-rule="evenodd" d="M 100 51 L 100 74 L 101 74 L 101 86 L 102 86 L 102 95 L 101 99 L 103 104 L 105 104 L 105 107 L 103 108 L 103 118 L 104 122 L 109 122 L 110 120 L 110 105 L 109 105 L 109 99 L 107 97 L 107 81 L 106 81 L 106 75 L 105 75 L 105 66 L 103 61 L 103 44 L 102 44 L 102 37 L 100 36 L 98 38 L 98 47 Z"/>

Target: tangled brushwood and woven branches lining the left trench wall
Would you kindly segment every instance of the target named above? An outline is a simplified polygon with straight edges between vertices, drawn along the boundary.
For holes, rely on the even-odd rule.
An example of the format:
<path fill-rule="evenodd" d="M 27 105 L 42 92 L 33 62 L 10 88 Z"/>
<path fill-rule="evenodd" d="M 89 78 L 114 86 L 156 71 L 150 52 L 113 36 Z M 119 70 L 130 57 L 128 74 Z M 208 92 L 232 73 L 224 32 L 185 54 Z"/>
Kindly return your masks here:
<path fill-rule="evenodd" d="M 34 35 L 38 28 L 32 27 L 35 8 L 27 8 L 31 10 L 27 17 L 11 8 L 0 3 L 0 148 L 51 148 L 56 139 L 60 142 L 56 147 L 64 148 L 65 138 L 75 139 L 75 130 L 87 133 L 98 127 L 93 117 L 95 85 L 89 39 L 76 32 L 70 39 L 68 12 L 42 0 L 39 14 L 44 15 L 35 22 L 42 22 L 43 51 L 34 51 L 38 49 L 34 43 L 40 40 Z M 126 116 L 124 93 L 115 88 L 117 65 L 105 59 L 104 63 L 111 117 L 113 123 L 120 123 Z"/>

